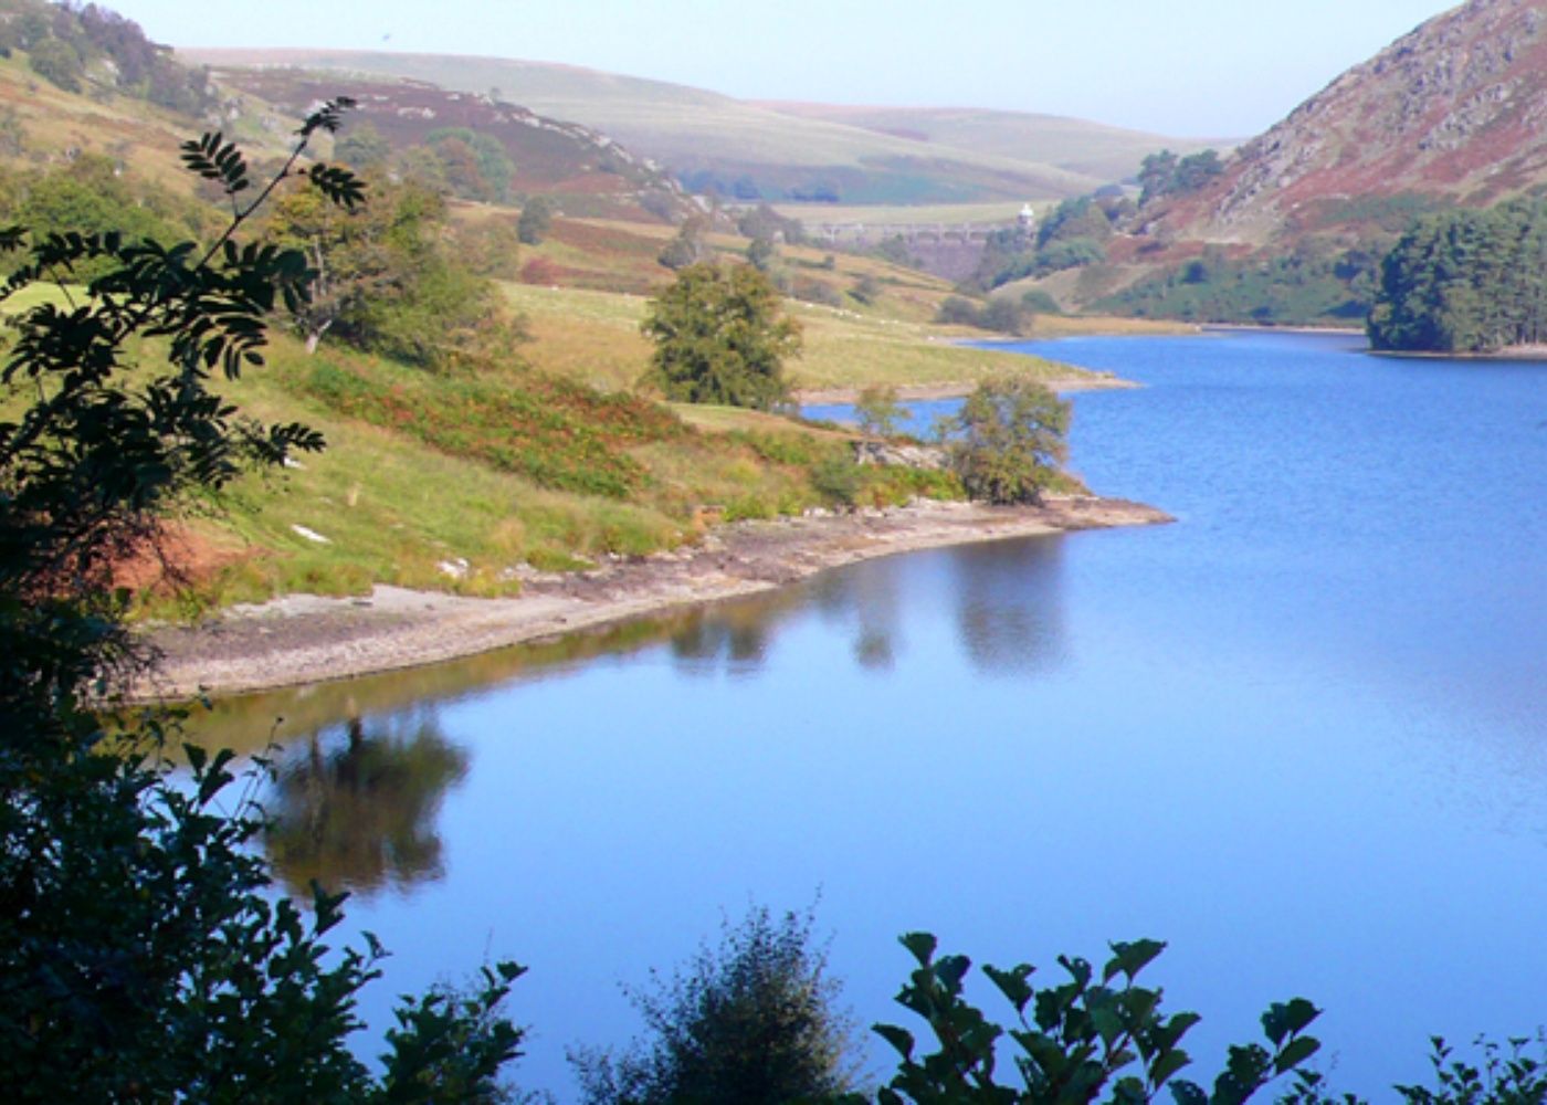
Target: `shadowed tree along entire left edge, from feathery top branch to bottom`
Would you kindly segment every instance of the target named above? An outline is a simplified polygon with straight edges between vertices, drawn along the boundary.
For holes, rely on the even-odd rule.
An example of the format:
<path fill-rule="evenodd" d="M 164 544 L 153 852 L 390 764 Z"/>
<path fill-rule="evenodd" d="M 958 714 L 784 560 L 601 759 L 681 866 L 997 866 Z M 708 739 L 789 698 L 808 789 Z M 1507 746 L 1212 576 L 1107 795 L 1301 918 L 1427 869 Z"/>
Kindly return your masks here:
<path fill-rule="evenodd" d="M 302 172 L 309 139 L 343 101 L 308 116 L 257 200 L 220 135 L 183 156 L 232 217 L 213 245 L 128 243 L 116 232 L 28 241 L 12 296 L 107 271 L 65 305 L 17 316 L 0 422 L 0 1096 L 59 1100 L 492 1102 L 520 1031 L 498 1012 L 521 969 L 484 969 L 469 992 L 399 1006 L 384 1072 L 350 1051 L 356 994 L 381 949 L 330 952 L 340 896 L 312 915 L 269 890 L 261 822 L 232 795 L 232 754 L 187 746 L 172 780 L 176 713 L 114 727 L 96 707 L 136 650 L 119 621 L 114 563 L 153 548 L 161 520 L 248 467 L 319 449 L 302 426 L 243 419 L 212 385 L 261 365 L 265 320 L 306 296 L 295 251 L 237 232 L 283 181 L 362 201 L 328 166 Z M 145 340 L 153 339 L 153 340 Z M 164 356 L 158 368 L 147 353 Z M 234 811 L 234 812 L 232 812 Z"/>

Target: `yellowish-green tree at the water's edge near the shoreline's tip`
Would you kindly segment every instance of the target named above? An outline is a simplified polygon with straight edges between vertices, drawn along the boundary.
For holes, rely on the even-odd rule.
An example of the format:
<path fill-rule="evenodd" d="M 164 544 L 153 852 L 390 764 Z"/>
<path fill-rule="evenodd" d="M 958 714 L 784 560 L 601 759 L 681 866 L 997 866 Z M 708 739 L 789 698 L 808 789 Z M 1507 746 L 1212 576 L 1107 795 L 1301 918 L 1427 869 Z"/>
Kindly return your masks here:
<path fill-rule="evenodd" d="M 1069 404 L 1035 381 L 999 376 L 978 384 L 942 432 L 972 498 L 1040 503 L 1069 455 Z"/>

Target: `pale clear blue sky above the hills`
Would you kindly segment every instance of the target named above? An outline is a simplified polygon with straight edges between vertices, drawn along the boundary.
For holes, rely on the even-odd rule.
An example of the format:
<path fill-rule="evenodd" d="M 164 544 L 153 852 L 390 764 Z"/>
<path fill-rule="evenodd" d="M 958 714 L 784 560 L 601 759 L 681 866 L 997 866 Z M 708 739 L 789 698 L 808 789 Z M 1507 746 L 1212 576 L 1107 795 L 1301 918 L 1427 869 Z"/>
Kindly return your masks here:
<path fill-rule="evenodd" d="M 483 54 L 741 99 L 1261 133 L 1448 0 L 107 0 L 173 46 Z"/>

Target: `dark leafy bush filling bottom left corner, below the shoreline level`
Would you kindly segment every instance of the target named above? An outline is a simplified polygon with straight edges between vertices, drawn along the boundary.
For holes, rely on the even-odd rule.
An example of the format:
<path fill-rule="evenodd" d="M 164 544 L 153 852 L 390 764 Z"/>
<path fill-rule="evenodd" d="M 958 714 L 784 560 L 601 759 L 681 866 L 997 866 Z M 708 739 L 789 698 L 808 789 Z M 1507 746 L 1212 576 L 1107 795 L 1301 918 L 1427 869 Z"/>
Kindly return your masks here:
<path fill-rule="evenodd" d="M 189 746 L 175 783 L 145 752 L 167 735 L 149 723 L 107 748 L 65 715 L 9 734 L 25 754 L 0 758 L 0 1096 L 500 1100 L 521 1032 L 498 1006 L 523 969 L 402 998 L 371 1074 L 348 1037 L 384 952 L 330 947 L 342 895 L 314 885 L 309 915 L 272 898 L 231 754 Z"/>

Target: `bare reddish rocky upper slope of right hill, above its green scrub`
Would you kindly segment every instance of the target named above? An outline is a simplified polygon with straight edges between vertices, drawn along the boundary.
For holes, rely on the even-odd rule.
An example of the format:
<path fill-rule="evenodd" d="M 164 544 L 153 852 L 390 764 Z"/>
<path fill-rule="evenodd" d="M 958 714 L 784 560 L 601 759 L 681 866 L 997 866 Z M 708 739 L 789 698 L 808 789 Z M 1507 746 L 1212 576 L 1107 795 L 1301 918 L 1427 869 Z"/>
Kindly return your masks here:
<path fill-rule="evenodd" d="M 1145 231 L 1255 246 L 1321 231 L 1352 238 L 1541 184 L 1547 0 L 1471 0 L 1340 76 Z"/>

